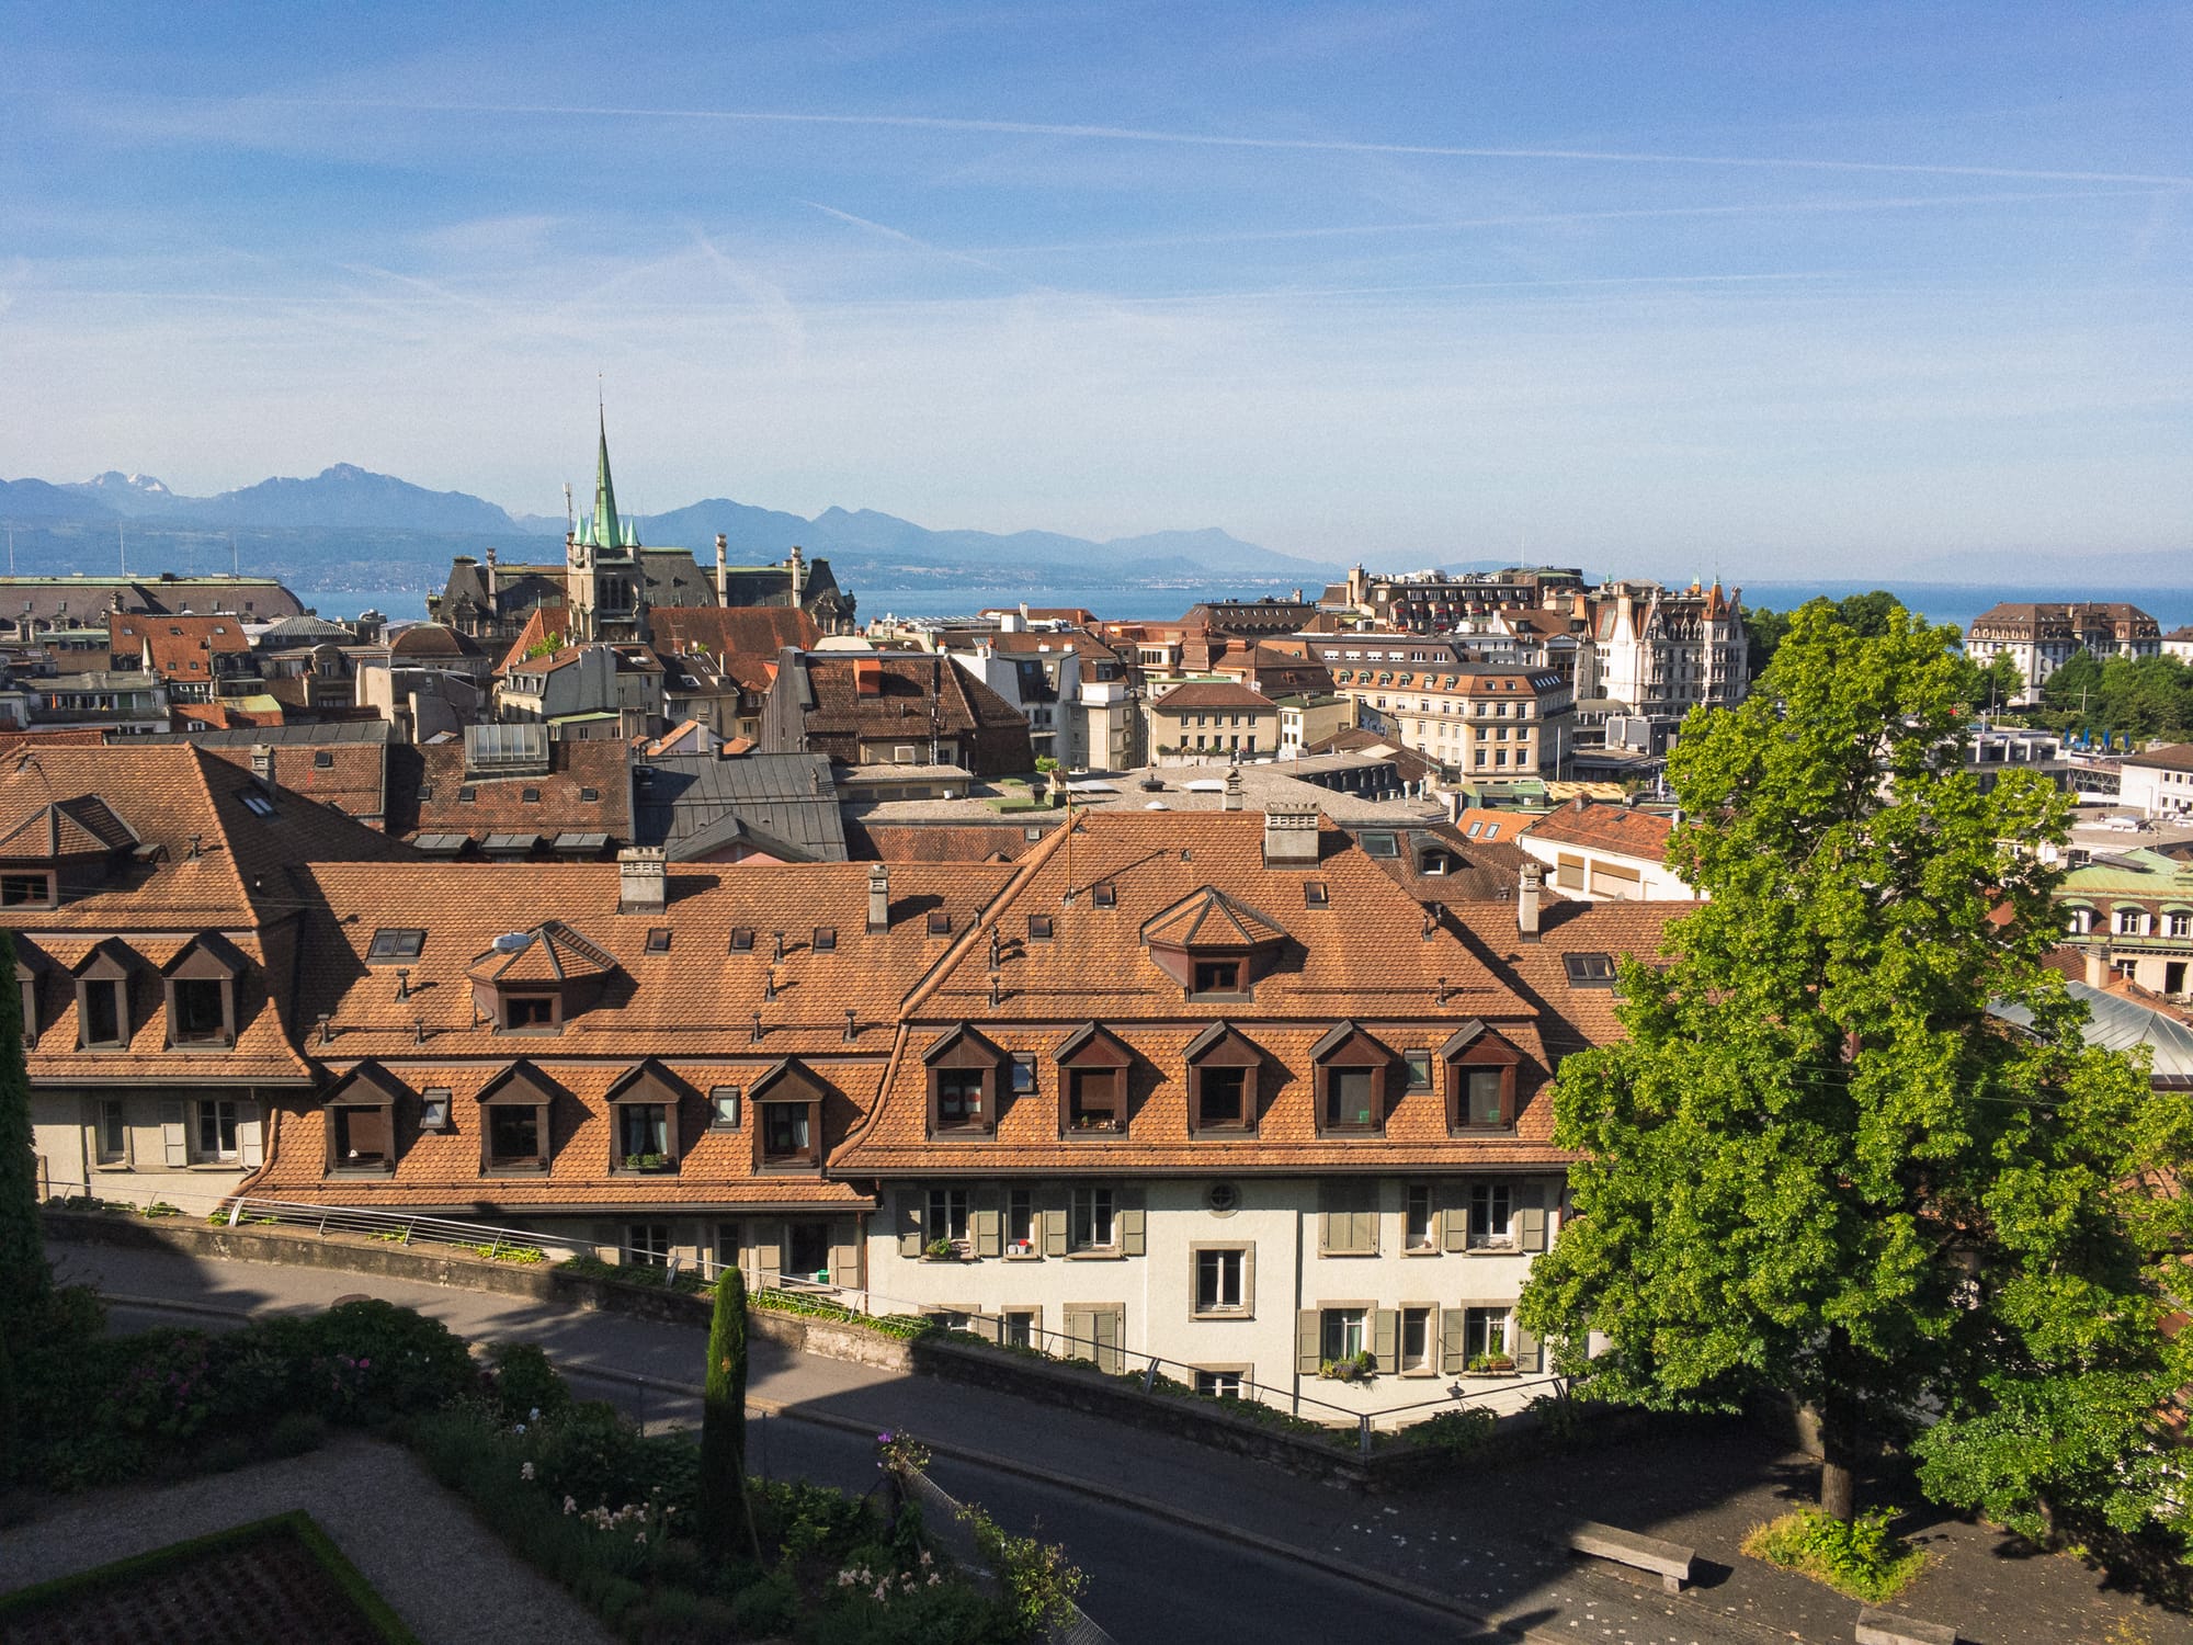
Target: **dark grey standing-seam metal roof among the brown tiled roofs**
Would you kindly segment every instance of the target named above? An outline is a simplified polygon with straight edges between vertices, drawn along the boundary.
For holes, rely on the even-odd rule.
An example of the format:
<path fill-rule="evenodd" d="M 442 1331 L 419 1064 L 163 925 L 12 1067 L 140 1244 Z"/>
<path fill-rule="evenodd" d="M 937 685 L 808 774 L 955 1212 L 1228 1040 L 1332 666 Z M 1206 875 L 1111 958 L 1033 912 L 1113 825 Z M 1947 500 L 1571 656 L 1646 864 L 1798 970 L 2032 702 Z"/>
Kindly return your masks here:
<path fill-rule="evenodd" d="M 632 792 L 636 844 L 660 844 L 680 862 L 691 849 L 730 844 L 737 836 L 717 827 L 726 818 L 811 862 L 846 860 L 827 755 L 660 755 L 634 768 Z"/>

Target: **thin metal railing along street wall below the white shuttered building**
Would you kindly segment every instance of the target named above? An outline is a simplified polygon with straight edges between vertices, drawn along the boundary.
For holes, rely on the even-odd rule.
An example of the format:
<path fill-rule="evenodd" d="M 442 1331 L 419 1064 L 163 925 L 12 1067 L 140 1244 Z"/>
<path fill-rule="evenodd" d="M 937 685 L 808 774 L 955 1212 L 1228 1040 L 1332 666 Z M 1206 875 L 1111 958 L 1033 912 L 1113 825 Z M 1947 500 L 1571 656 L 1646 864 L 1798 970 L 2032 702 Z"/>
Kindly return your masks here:
<path fill-rule="evenodd" d="M 230 1228 L 246 1224 L 283 1224 L 292 1228 L 309 1228 L 322 1237 L 329 1233 L 346 1233 L 384 1239 L 397 1246 L 450 1246 L 480 1257 L 502 1259 L 511 1259 L 513 1252 L 539 1252 L 546 1261 L 568 1261 L 572 1257 L 614 1259 L 618 1266 L 660 1270 L 664 1283 L 675 1283 L 682 1266 L 680 1257 L 669 1257 L 664 1261 L 654 1252 L 629 1246 L 610 1246 L 592 1239 L 533 1233 L 529 1228 L 498 1228 L 493 1224 L 456 1222 L 450 1217 L 428 1217 L 404 1211 L 362 1211 L 351 1206 L 268 1200 L 259 1195 L 202 1195 L 200 1204 L 215 1209 Z M 704 1257 L 702 1263 L 693 1268 L 693 1279 L 700 1285 L 708 1285 L 719 1272 L 721 1263 L 713 1257 Z M 1529 1391 L 1544 1388 L 1557 1393 L 1566 1382 L 1566 1377 L 1559 1375 L 1502 1377 L 1489 1388 L 1465 1388 L 1463 1382 L 1452 1382 L 1443 1393 L 1428 1399 L 1414 1399 L 1401 1406 L 1382 1406 L 1379 1410 L 1353 1410 L 1349 1406 L 1303 1393 L 1300 1386 L 1270 1386 L 1257 1382 L 1246 1371 L 1213 1373 L 1182 1360 L 1143 1353 L 1094 1336 L 1039 1329 L 1026 1316 L 1013 1318 L 1007 1314 L 945 1309 L 936 1303 L 886 1296 L 860 1285 L 829 1285 L 789 1277 L 779 1277 L 774 1290 L 814 1298 L 816 1303 L 857 1318 L 928 1318 L 945 1329 L 969 1331 L 1002 1349 L 1020 1349 L 1048 1360 L 1088 1362 L 1096 1371 L 1112 1375 L 1132 1373 L 1140 1380 L 1145 1395 L 1158 1395 L 1158 1377 L 1164 1377 L 1171 1384 L 1217 1402 L 1241 1399 L 1265 1406 L 1285 1417 L 1333 1430 L 1336 1434 L 1353 1430 L 1355 1445 L 1364 1456 L 1373 1450 L 1373 1434 L 1377 1428 L 1406 1428 L 1410 1421 L 1421 1421 L 1425 1415 L 1434 1415 L 1439 1410 L 1467 1410 L 1474 1406 L 1487 1410 L 1520 1410 L 1526 1404 Z"/>

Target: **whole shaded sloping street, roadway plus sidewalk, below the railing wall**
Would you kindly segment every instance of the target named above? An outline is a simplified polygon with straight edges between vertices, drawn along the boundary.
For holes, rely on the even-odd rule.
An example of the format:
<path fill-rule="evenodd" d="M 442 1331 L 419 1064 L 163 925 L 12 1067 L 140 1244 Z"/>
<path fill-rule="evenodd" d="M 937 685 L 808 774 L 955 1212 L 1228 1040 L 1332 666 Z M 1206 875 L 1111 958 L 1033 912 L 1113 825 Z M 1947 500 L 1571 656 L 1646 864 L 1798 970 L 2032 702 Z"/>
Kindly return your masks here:
<path fill-rule="evenodd" d="M 614 1397 L 649 1426 L 697 1421 L 689 1397 L 627 1380 L 691 1386 L 702 1342 L 691 1327 L 316 1268 L 96 1246 L 53 1252 L 66 1279 L 217 1309 L 320 1307 L 351 1292 L 386 1296 L 476 1340 L 537 1340 L 586 1393 Z M 116 1309 L 116 1318 L 136 1325 L 149 1316 Z M 1421 1610 L 1406 1590 L 1445 1597 L 1531 1638 L 1621 1645 L 1842 1645 L 1857 1612 L 1825 1588 L 1737 1555 L 1743 1529 L 1781 1511 L 1787 1491 L 1807 1480 L 1798 1459 L 1730 1430 L 1719 1430 L 1711 1448 L 1660 1437 L 1362 1498 L 1079 1413 L 768 1342 L 757 1345 L 750 1393 L 783 1410 L 757 1423 L 754 1463 L 772 1474 L 866 1489 L 868 1434 L 886 1426 L 921 1434 L 939 1452 L 939 1485 L 982 1502 L 1013 1529 L 1039 1527 L 1072 1548 L 1092 1575 L 1090 1614 L 1123 1645 L 1340 1641 L 1366 1625 L 1393 1638 L 1472 1638 L 1452 1610 Z M 1669 1597 L 1605 1568 L 1572 1566 L 1559 1551 L 1559 1527 L 1577 1518 L 1691 1542 L 1715 1570 L 1697 1590 Z M 2193 1641 L 2186 1619 L 2101 1592 L 2072 1559 L 2004 1562 L 1993 1553 L 1998 1538 L 1958 1522 L 1930 1527 L 1928 1535 L 1939 1573 L 1912 1588 L 1910 1610 L 1956 1621 L 1974 1645 L 2101 1645 L 2121 1619 L 2134 1619 L 2154 1645 Z"/>

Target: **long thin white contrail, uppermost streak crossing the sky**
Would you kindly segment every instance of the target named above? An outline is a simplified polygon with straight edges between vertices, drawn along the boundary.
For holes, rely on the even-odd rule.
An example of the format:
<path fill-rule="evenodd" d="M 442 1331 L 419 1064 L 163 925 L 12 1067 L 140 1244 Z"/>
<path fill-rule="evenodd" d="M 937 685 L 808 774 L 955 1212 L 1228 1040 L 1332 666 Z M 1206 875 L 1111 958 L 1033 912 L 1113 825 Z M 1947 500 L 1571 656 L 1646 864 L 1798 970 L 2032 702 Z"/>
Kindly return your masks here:
<path fill-rule="evenodd" d="M 213 103 L 217 99 L 178 99 Z M 1629 149 L 1493 149 L 1450 143 L 1360 143 L 1349 138 L 1226 136 L 1213 132 L 1151 132 L 1132 125 L 1055 125 L 1046 121 L 982 121 L 943 114 L 811 114 L 803 110 L 612 107 L 588 103 L 443 103 L 377 97 L 252 97 L 228 107 L 355 107 L 408 114 L 524 114 L 614 121 L 728 121 L 743 125 L 866 125 L 899 132 L 976 132 L 989 136 L 1050 136 L 1094 143 L 1167 143 L 1204 149 L 1279 149 L 1292 154 L 1393 154 L 1434 160 L 1581 160 L 1601 164 L 1737 167 L 1752 171 L 1879 171 L 1912 178 L 2004 178 L 2018 182 L 2125 182 L 2193 186 L 2193 178 L 2143 171 L 2044 171 L 2033 167 L 1956 167 L 1910 160 L 1811 160 L 1735 154 L 1651 154 Z"/>

